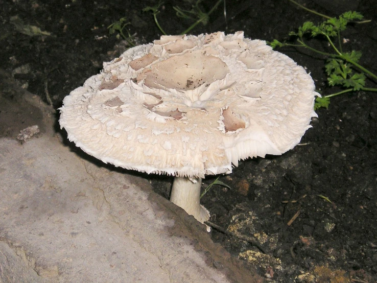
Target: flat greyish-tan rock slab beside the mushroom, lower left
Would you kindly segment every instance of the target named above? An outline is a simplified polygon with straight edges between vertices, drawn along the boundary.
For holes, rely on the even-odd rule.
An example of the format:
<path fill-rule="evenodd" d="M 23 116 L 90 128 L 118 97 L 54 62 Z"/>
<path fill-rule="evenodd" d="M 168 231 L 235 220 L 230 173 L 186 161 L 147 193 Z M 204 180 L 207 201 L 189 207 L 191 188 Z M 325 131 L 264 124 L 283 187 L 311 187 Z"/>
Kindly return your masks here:
<path fill-rule="evenodd" d="M 62 144 L 54 119 L 0 138 L 0 282 L 258 281 L 145 178 Z"/>

